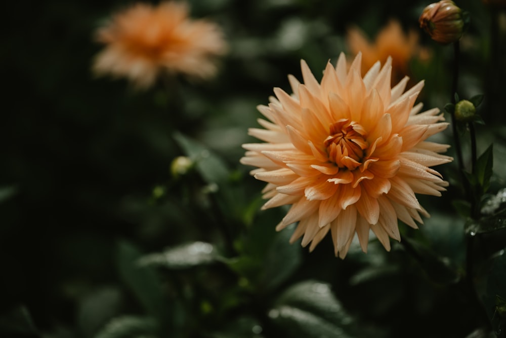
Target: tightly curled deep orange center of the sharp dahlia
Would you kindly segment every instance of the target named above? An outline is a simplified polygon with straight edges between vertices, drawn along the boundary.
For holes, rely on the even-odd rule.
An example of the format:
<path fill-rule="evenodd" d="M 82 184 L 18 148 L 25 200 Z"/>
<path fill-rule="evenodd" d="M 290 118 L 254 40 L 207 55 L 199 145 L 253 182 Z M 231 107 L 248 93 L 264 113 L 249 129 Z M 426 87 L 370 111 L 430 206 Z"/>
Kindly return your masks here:
<path fill-rule="evenodd" d="M 357 168 L 364 157 L 364 149 L 369 145 L 364 135 L 364 128 L 356 122 L 341 119 L 332 123 L 330 135 L 323 142 L 329 161 L 340 168 Z"/>

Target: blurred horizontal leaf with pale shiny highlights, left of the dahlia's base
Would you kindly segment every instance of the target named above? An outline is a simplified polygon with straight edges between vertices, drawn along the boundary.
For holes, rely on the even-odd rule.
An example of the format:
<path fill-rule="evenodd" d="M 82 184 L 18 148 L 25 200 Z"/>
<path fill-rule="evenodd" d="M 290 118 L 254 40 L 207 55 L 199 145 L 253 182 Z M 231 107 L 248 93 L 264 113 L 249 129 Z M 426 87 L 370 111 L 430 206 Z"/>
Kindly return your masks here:
<path fill-rule="evenodd" d="M 205 242 L 192 242 L 151 253 L 137 260 L 141 267 L 161 266 L 168 269 L 187 269 L 210 264 L 217 259 L 216 248 Z"/>

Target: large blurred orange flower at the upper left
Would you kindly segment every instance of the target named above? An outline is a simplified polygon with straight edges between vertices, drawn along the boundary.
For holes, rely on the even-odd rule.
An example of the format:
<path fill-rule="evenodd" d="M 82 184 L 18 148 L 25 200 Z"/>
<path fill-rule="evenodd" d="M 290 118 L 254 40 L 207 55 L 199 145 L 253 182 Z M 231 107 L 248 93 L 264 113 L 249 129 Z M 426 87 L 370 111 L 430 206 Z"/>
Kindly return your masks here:
<path fill-rule="evenodd" d="M 112 17 L 97 31 L 105 44 L 94 62 L 97 74 L 126 77 L 138 87 L 152 85 L 160 72 L 208 78 L 214 57 L 226 52 L 218 25 L 191 20 L 185 3 L 138 3 Z"/>

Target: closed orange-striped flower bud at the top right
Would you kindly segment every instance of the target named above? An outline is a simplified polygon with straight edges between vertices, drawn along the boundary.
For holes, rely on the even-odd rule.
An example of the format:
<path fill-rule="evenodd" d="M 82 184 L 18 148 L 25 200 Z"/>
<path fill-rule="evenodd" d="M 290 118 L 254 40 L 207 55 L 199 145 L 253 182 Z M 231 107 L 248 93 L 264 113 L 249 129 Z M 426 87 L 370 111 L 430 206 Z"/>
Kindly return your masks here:
<path fill-rule="evenodd" d="M 432 40 L 444 45 L 458 41 L 464 29 L 462 10 L 450 0 L 427 6 L 418 22 Z"/>

